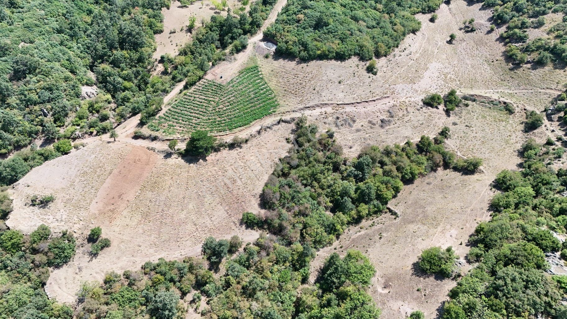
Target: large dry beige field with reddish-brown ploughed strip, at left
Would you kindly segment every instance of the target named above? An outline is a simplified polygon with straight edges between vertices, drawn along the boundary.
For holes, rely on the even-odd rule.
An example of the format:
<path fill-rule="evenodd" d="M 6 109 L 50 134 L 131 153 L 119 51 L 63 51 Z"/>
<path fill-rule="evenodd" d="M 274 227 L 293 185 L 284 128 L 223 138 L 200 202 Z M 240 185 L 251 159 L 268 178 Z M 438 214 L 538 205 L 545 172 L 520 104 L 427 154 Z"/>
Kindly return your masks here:
<path fill-rule="evenodd" d="M 205 237 L 246 241 L 258 235 L 239 225 L 242 212 L 258 213 L 258 196 L 274 163 L 289 148 L 290 124 L 268 131 L 242 149 L 214 153 L 206 161 L 161 157 L 122 142 L 91 142 L 86 148 L 37 167 L 12 195 L 11 228 L 31 232 L 41 223 L 70 229 L 79 239 L 74 259 L 52 272 L 46 291 L 72 303 L 81 282 L 105 272 L 138 268 L 160 257 L 197 255 Z M 47 208 L 26 207 L 33 194 L 52 193 Z M 88 254 L 90 228 L 101 225 L 112 246 Z"/>

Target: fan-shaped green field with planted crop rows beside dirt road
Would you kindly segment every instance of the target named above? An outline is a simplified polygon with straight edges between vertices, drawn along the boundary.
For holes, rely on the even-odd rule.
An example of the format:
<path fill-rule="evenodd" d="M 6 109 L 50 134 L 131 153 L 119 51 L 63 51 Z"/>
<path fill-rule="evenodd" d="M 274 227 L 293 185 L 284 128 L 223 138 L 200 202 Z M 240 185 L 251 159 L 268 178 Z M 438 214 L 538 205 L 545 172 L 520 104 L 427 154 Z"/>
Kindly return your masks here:
<path fill-rule="evenodd" d="M 203 79 L 160 115 L 150 128 L 165 135 L 189 135 L 197 129 L 230 132 L 276 111 L 278 102 L 258 66 L 228 83 Z"/>

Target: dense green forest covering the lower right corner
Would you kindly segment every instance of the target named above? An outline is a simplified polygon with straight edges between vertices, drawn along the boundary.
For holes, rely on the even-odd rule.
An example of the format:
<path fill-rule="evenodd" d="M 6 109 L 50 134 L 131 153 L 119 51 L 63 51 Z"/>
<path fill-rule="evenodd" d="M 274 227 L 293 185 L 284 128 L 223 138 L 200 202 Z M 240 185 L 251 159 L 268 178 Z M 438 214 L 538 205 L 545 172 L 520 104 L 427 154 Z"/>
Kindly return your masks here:
<path fill-rule="evenodd" d="M 477 226 L 467 255 L 478 262 L 463 277 L 445 304 L 443 319 L 565 318 L 560 299 L 567 276 L 545 274 L 545 253 L 564 249 L 550 230 L 565 233 L 567 171 L 547 165 L 555 153 L 549 145 L 528 140 L 521 149 L 521 171 L 504 170 L 496 177 L 502 191 L 492 199 L 492 220 Z M 543 316 L 541 316 L 543 314 Z"/>

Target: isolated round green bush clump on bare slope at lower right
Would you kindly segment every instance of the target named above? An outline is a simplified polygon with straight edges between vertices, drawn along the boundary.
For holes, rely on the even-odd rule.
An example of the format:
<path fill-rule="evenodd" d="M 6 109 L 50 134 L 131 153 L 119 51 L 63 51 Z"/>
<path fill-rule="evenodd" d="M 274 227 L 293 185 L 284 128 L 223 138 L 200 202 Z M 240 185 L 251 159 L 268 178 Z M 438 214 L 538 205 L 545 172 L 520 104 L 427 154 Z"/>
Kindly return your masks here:
<path fill-rule="evenodd" d="M 437 274 L 448 278 L 456 269 L 455 261 L 457 258 L 459 256 L 455 255 L 451 246 L 445 250 L 441 247 L 431 247 L 421 253 L 418 266 L 426 274 Z"/>

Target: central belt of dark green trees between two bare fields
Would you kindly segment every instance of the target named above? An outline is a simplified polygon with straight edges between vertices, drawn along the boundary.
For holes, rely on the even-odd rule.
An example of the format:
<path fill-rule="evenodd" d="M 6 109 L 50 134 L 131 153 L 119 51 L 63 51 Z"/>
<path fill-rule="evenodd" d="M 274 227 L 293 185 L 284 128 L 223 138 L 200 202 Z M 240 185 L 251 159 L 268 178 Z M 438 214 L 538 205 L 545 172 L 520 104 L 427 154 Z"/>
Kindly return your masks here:
<path fill-rule="evenodd" d="M 435 140 L 444 141 L 448 133 L 443 128 Z M 386 211 L 404 183 L 464 161 L 456 161 L 454 153 L 428 136 L 417 143 L 367 146 L 357 158 L 343 158 L 334 133 L 319 134 L 304 117 L 296 123 L 294 145 L 261 194 L 271 212 L 263 220 L 244 213 L 243 223 L 265 228 L 289 244 L 299 241 L 315 248 L 332 244 L 348 225 Z M 466 161 L 461 169 L 477 168 L 476 162 Z"/>

